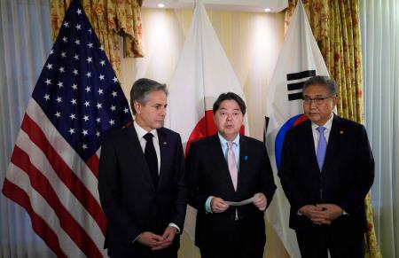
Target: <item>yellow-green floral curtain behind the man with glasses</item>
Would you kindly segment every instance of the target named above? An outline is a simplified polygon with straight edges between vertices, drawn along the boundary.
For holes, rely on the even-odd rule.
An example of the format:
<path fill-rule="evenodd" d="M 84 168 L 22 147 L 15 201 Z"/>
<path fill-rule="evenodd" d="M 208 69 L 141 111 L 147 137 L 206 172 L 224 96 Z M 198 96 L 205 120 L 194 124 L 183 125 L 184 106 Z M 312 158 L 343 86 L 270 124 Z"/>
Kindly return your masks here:
<path fill-rule="evenodd" d="M 289 0 L 286 28 L 297 0 Z M 302 0 L 310 27 L 325 59 L 330 76 L 337 82 L 338 113 L 341 117 L 364 122 L 362 46 L 359 0 Z M 365 201 L 368 231 L 364 241 L 368 258 L 382 257 L 374 231 L 370 193 Z"/>

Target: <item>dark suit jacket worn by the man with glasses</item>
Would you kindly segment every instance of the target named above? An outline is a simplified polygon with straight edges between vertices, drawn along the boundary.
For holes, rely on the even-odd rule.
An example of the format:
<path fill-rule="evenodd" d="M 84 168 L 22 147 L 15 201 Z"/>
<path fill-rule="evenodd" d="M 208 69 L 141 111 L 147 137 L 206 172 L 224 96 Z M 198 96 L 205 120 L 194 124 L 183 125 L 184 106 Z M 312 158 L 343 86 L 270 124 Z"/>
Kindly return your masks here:
<path fill-rule="evenodd" d="M 307 204 L 332 203 L 348 216 L 332 226 L 365 229 L 364 197 L 374 178 L 374 160 L 364 126 L 334 115 L 325 162 L 317 165 L 311 121 L 286 133 L 278 176 L 291 204 L 290 227 L 306 230 L 312 223 L 298 210 Z"/>

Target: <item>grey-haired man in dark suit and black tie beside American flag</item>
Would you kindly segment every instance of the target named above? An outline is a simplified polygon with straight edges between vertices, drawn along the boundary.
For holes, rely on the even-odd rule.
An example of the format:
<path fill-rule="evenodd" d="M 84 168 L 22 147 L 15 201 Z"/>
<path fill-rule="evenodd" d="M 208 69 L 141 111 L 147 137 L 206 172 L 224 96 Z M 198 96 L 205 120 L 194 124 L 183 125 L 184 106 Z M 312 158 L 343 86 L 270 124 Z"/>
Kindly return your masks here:
<path fill-rule="evenodd" d="M 111 257 L 177 257 L 187 192 L 180 136 L 163 128 L 167 94 L 165 84 L 137 80 L 133 125 L 103 141 L 98 192 Z"/>

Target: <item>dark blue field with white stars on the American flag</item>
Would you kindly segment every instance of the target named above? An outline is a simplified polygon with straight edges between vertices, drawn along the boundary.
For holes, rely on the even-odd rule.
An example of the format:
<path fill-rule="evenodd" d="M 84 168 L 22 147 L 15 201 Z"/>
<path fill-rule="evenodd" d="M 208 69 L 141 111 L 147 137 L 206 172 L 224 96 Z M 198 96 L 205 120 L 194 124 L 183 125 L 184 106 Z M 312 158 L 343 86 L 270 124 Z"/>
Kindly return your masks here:
<path fill-rule="evenodd" d="M 82 7 L 81 7 L 82 8 Z M 87 160 L 102 135 L 132 121 L 129 104 L 98 37 L 71 4 L 32 97 L 74 150 Z"/>

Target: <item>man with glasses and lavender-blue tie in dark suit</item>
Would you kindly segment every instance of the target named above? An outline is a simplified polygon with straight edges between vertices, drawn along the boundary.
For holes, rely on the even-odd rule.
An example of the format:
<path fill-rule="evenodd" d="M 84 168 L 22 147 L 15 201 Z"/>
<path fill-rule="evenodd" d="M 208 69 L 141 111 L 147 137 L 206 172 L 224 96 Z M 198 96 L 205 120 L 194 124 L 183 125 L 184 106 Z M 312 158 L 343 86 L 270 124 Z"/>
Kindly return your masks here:
<path fill-rule="evenodd" d="M 329 77 L 310 78 L 302 95 L 309 121 L 286 133 L 278 171 L 301 256 L 364 257 L 364 197 L 374 178 L 366 131 L 332 113 L 337 90 Z"/>

